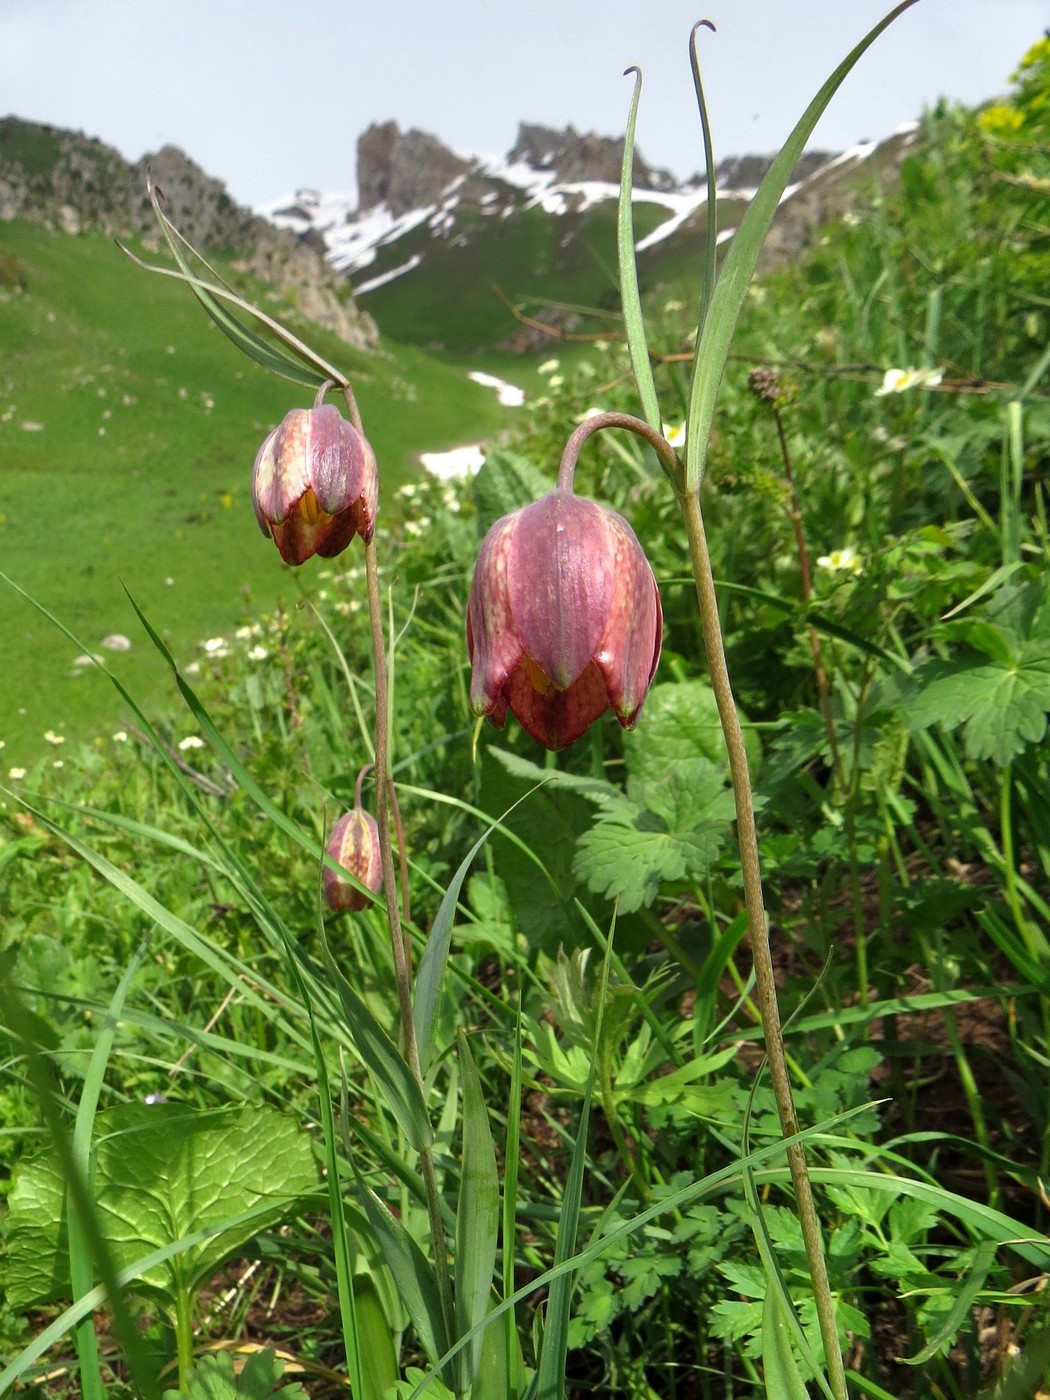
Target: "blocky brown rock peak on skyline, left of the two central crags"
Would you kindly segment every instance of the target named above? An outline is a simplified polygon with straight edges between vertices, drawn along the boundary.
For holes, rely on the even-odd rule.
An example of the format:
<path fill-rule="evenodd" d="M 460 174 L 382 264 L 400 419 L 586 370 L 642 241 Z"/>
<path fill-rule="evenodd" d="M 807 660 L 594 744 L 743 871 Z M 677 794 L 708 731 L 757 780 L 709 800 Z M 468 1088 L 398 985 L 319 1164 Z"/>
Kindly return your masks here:
<path fill-rule="evenodd" d="M 357 140 L 357 202 L 361 213 L 385 204 L 396 217 L 435 204 L 470 161 L 427 132 L 372 122 Z"/>

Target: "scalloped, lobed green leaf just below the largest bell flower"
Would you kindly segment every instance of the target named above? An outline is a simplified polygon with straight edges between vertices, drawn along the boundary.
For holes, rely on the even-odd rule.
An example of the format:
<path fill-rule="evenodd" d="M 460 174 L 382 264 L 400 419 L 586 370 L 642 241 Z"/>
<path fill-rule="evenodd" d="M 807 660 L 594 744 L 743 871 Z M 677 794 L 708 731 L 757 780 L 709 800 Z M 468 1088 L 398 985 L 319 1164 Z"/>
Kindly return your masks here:
<path fill-rule="evenodd" d="M 679 763 L 638 788 L 645 806 L 608 802 L 580 837 L 574 862 L 577 876 L 617 899 L 624 913 L 651 904 L 665 881 L 703 875 L 734 815 L 722 773 L 707 759 Z"/>

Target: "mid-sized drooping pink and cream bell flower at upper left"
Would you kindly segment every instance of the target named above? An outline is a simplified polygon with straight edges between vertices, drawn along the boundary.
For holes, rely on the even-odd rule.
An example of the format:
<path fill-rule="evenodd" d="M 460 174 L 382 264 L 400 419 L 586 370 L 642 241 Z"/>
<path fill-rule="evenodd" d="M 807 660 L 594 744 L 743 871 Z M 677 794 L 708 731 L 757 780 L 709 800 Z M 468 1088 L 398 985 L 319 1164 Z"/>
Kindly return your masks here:
<path fill-rule="evenodd" d="M 368 441 L 333 405 L 293 409 L 255 458 L 252 504 L 286 564 L 332 559 L 375 531 L 379 477 Z"/>

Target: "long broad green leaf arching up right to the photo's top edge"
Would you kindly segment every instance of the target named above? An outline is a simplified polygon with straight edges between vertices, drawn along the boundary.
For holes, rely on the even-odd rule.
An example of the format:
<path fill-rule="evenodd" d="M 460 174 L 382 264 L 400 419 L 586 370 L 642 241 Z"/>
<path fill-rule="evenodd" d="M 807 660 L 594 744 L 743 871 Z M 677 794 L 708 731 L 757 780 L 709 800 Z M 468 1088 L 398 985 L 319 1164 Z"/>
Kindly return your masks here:
<path fill-rule="evenodd" d="M 903 0 L 885 20 L 875 25 L 855 49 L 839 64 L 834 73 L 805 109 L 798 125 L 784 143 L 773 165 L 766 172 L 755 199 L 741 220 L 722 263 L 722 270 L 711 297 L 711 304 L 703 330 L 697 337 L 693 374 L 689 391 L 689 437 L 686 440 L 686 490 L 696 491 L 704 475 L 707 444 L 714 423 L 718 389 L 725 371 L 729 344 L 736 330 L 736 322 L 748 295 L 748 286 L 766 241 L 770 224 L 777 213 L 780 197 L 787 189 L 791 171 L 802 154 L 809 136 L 836 91 L 868 48 L 897 15 L 909 10 L 916 0 Z"/>

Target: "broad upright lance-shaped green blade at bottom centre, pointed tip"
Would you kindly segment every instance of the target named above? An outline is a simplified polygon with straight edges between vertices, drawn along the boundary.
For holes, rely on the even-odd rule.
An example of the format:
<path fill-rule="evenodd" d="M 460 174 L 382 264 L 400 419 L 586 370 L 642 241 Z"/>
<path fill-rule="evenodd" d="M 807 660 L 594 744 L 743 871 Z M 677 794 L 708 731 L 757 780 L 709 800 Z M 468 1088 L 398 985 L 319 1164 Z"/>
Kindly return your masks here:
<path fill-rule="evenodd" d="M 456 1336 L 462 1337 L 473 1331 L 489 1312 L 500 1233 L 500 1177 L 489 1110 L 470 1044 L 462 1029 L 459 1074 L 463 1084 L 463 1159 L 456 1207 L 455 1305 Z M 476 1333 L 466 1351 L 463 1387 L 477 1375 L 483 1341 L 483 1331 Z"/>

